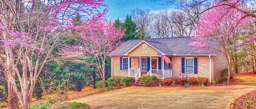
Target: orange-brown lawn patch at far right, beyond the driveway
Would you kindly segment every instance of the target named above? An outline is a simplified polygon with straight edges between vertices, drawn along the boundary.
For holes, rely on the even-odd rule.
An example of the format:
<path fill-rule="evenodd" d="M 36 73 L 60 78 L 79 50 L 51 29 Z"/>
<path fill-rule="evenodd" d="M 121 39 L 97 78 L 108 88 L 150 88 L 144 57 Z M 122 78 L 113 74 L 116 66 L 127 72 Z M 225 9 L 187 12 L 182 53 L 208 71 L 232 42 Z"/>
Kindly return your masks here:
<path fill-rule="evenodd" d="M 241 74 L 234 77 L 236 85 L 256 86 L 256 74 Z"/>

